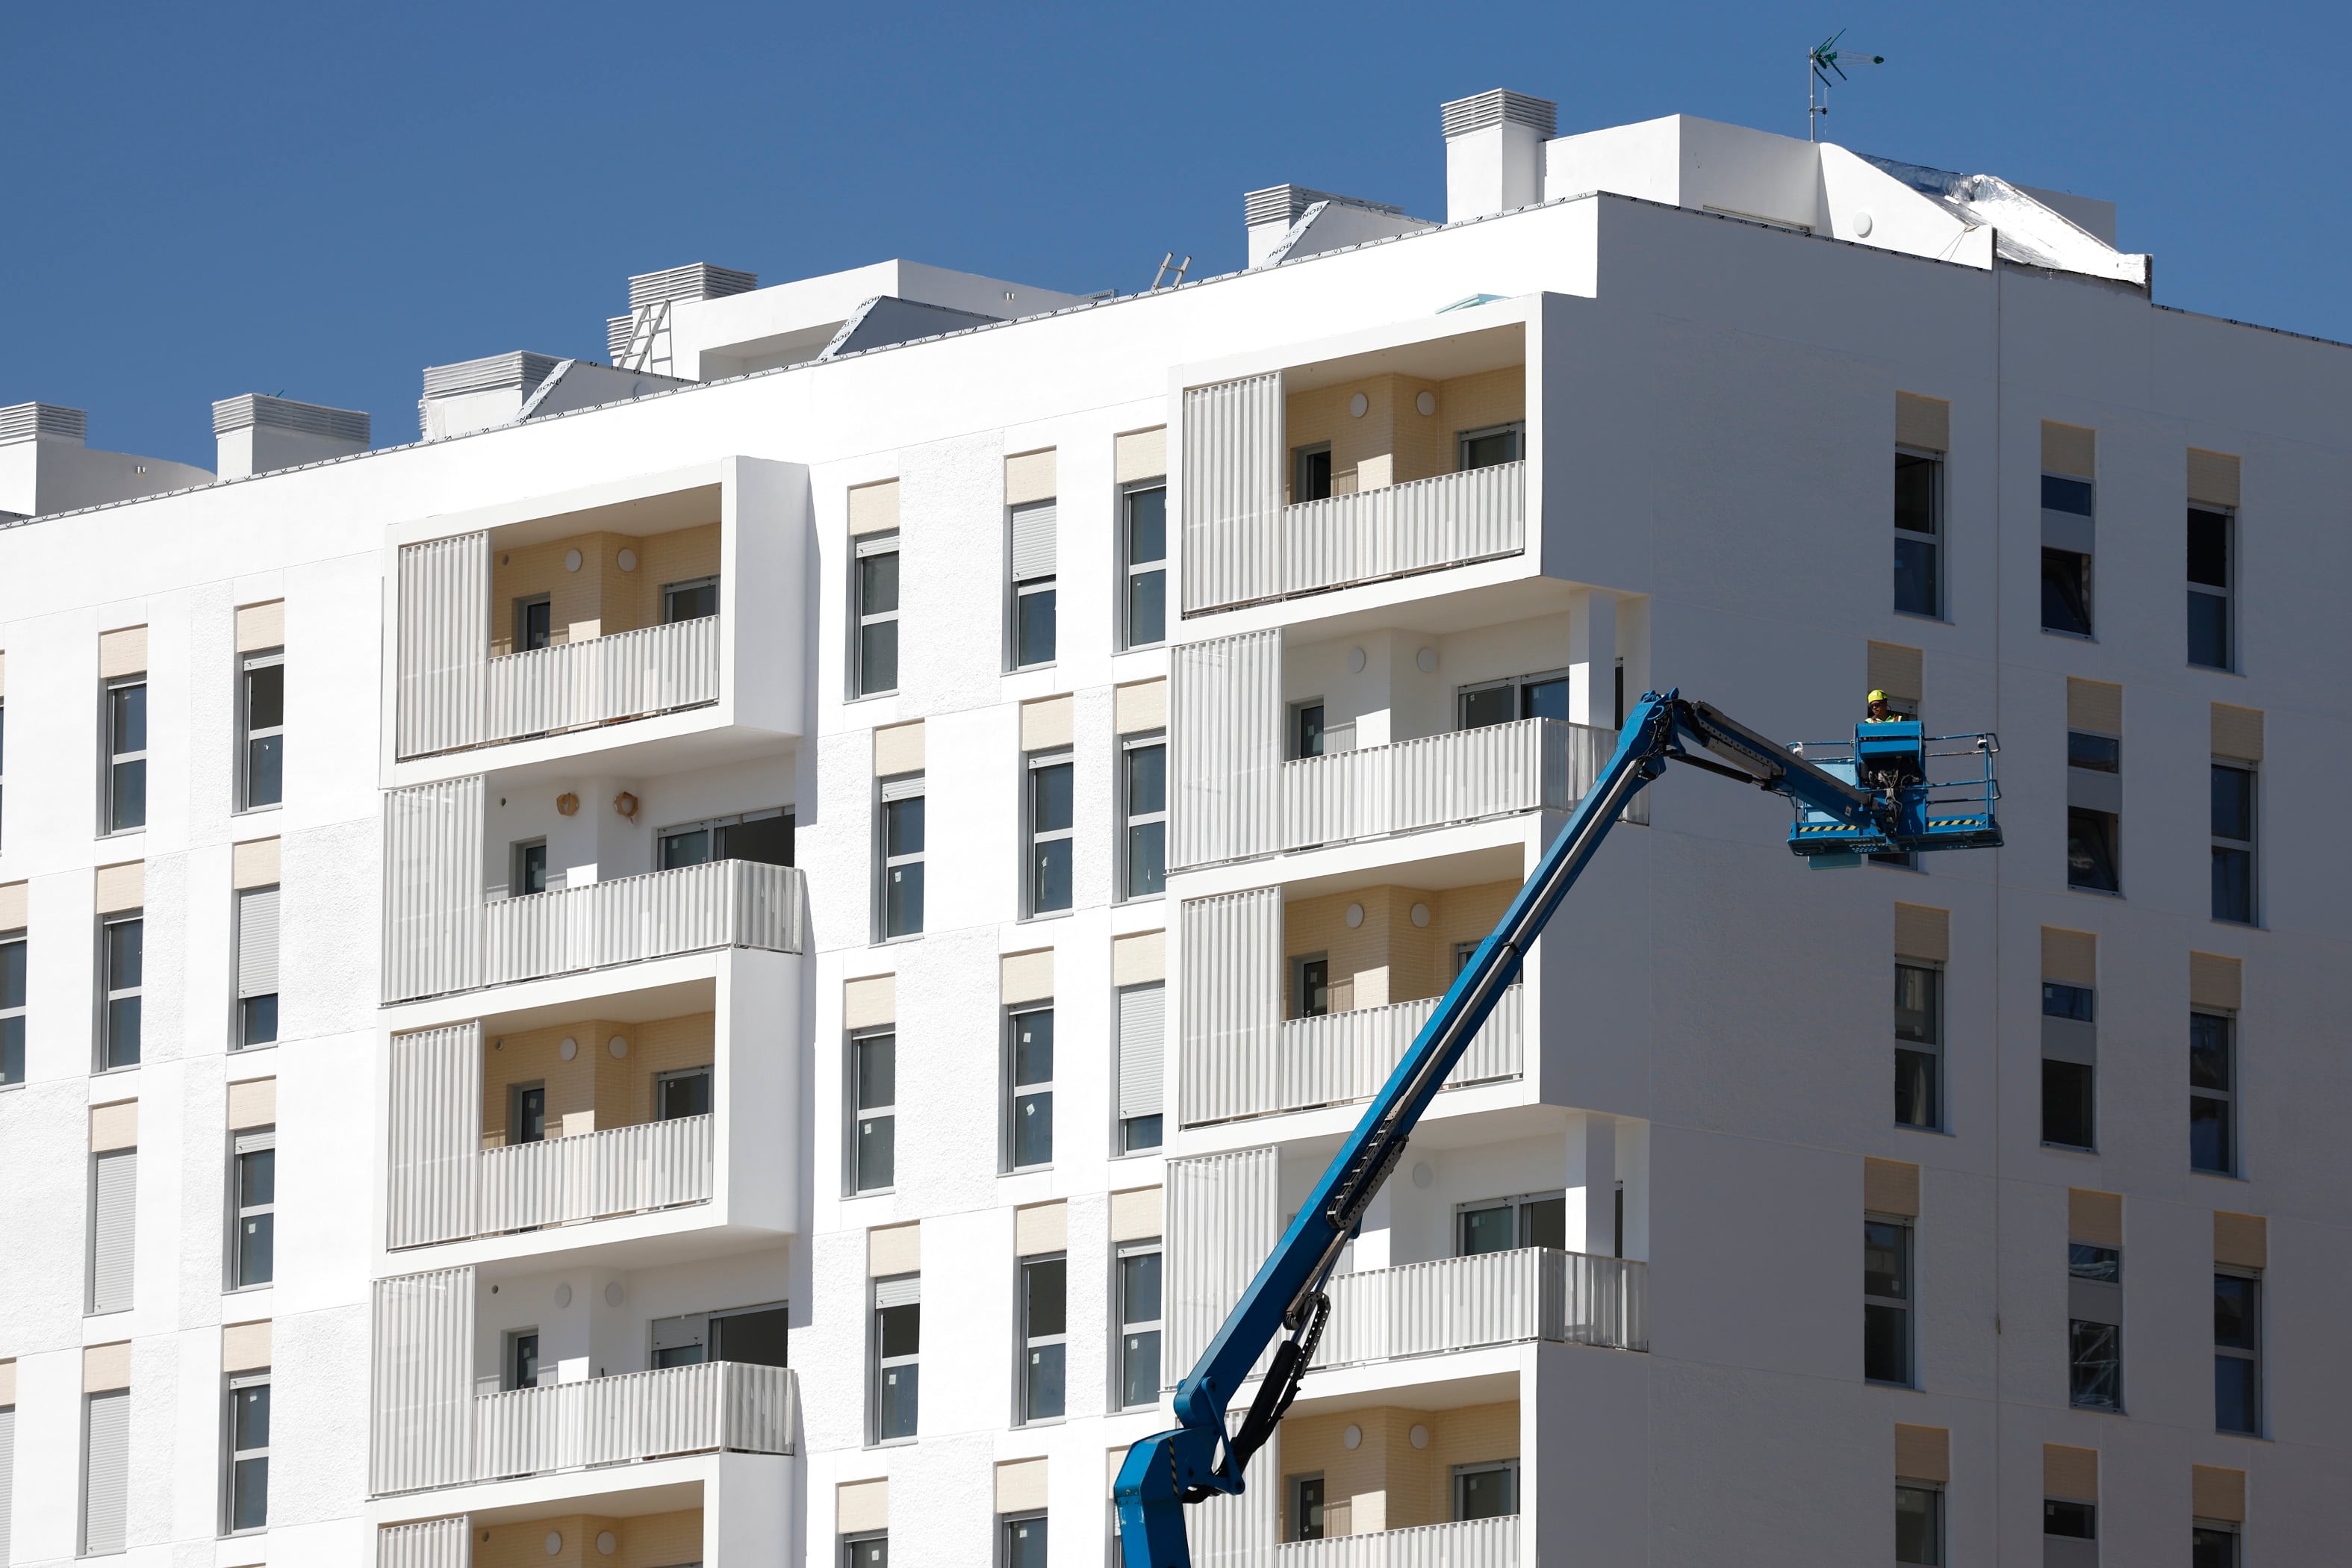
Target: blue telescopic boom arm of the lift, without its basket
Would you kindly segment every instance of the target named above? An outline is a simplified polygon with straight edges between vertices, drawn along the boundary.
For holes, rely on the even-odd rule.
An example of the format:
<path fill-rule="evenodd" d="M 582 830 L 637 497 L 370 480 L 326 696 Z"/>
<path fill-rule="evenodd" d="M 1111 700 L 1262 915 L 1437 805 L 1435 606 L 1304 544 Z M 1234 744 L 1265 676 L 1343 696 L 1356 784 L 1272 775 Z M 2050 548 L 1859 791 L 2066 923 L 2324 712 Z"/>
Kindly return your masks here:
<path fill-rule="evenodd" d="M 1696 748 L 1696 750 L 1693 750 Z M 1700 755 L 1703 752 L 1703 755 Z M 1355 1234 L 1381 1182 L 1404 1154 L 1421 1114 L 1486 1023 L 1496 999 L 1519 976 L 1529 947 L 1552 919 L 1602 839 L 1621 820 L 1628 802 L 1668 762 L 1689 762 L 1710 773 L 1785 795 L 1811 820 L 1835 818 L 1858 835 L 1896 832 L 1900 790 L 1860 788 L 1820 769 L 1792 750 L 1759 736 L 1705 703 L 1651 691 L 1635 705 L 1609 757 L 1566 827 L 1526 879 L 1501 924 L 1479 943 L 1454 987 L 1430 1013 L 1404 1060 L 1374 1095 L 1348 1143 L 1298 1218 L 1242 1291 L 1232 1314 L 1202 1352 L 1192 1373 L 1176 1385 L 1174 1432 L 1160 1432 L 1127 1450 L 1112 1497 L 1120 1507 L 1124 1568 L 1190 1568 L 1183 1505 L 1216 1493 L 1240 1493 L 1249 1458 L 1272 1436 L 1298 1394 L 1315 1342 L 1322 1338 L 1331 1300 L 1324 1281 L 1341 1248 Z M 1990 813 L 1987 813 L 1990 816 Z M 1287 1335 L 1287 1338 L 1284 1338 Z M 1228 1429 L 1228 1406 L 1265 1347 L 1272 1363 L 1237 1429 Z"/>

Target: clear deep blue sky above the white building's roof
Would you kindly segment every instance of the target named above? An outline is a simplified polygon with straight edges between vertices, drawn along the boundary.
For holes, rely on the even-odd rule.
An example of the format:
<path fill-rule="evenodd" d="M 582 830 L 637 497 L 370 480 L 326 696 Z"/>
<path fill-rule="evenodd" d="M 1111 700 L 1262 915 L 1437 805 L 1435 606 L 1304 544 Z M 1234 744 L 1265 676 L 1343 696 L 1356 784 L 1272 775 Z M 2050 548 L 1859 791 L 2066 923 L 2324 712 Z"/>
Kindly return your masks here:
<path fill-rule="evenodd" d="M 209 404 L 416 433 L 419 371 L 602 357 L 626 277 L 889 256 L 1129 292 L 1242 261 L 1242 193 L 1444 216 L 1444 99 L 1562 132 L 1804 134 L 1804 49 L 1863 153 L 2119 202 L 2157 299 L 2352 339 L 2343 12 L 2216 5 L 14 5 L 0 404 L 212 465 Z"/>

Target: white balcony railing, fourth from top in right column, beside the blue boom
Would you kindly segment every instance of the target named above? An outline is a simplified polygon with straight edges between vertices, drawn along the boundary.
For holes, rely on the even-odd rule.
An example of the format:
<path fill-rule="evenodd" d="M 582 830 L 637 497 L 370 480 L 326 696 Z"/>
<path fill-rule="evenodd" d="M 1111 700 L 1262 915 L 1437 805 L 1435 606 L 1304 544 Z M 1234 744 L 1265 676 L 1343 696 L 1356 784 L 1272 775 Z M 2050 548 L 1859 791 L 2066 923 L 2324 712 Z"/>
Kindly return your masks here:
<path fill-rule="evenodd" d="M 1315 1366 L 1435 1356 L 1477 1345 L 1649 1349 L 1649 1265 L 1526 1246 L 1334 1274 Z"/>

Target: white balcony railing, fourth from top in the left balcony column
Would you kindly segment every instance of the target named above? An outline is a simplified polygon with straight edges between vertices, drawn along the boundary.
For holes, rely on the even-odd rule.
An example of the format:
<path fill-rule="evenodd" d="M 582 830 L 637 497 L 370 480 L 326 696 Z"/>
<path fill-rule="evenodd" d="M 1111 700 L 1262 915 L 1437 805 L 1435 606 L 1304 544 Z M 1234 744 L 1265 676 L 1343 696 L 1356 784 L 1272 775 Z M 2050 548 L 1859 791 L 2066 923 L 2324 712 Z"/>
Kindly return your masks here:
<path fill-rule="evenodd" d="M 480 1481 L 673 1453 L 795 1453 L 800 1382 L 781 1366 L 706 1361 L 473 1399 Z"/>

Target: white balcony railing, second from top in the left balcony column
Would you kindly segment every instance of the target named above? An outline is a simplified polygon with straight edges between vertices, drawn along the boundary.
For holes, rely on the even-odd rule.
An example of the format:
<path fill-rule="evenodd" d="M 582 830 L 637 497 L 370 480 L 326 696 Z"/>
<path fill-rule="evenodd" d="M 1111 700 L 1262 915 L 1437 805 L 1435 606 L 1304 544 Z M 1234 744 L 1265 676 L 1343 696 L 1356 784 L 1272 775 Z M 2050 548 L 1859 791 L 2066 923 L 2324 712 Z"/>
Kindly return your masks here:
<path fill-rule="evenodd" d="M 485 985 L 642 964 L 703 947 L 800 952 L 800 872 L 713 860 L 560 893 L 496 898 L 482 910 Z"/>

